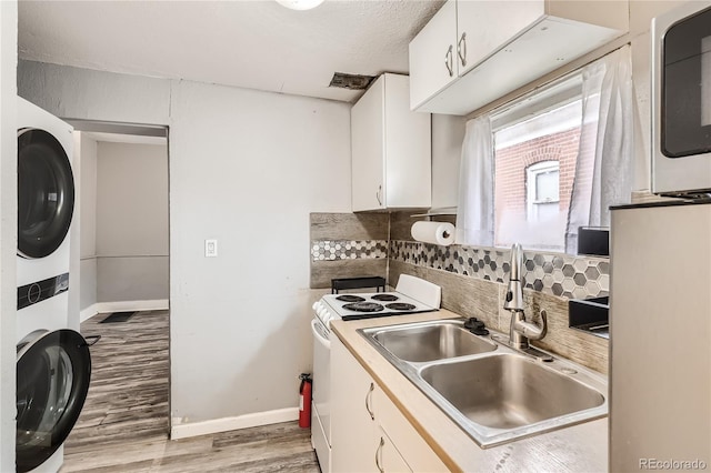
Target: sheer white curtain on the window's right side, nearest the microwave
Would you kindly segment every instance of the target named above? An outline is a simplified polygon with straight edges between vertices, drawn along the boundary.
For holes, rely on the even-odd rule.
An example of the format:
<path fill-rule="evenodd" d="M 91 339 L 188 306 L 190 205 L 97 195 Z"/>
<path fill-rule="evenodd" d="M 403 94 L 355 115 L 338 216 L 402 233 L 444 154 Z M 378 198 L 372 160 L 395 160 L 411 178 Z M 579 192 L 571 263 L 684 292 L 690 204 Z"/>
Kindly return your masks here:
<path fill-rule="evenodd" d="M 565 251 L 575 253 L 579 227 L 609 227 L 610 205 L 628 203 L 632 191 L 632 61 L 625 46 L 582 72 L 582 132 L 571 197 Z M 584 175 L 594 160 L 592 177 Z"/>

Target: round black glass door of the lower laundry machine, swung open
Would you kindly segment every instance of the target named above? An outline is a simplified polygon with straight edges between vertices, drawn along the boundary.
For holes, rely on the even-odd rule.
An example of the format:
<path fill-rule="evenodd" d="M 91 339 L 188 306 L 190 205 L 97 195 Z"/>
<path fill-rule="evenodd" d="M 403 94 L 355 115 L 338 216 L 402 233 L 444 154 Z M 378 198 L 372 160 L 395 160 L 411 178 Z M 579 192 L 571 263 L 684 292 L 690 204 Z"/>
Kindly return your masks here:
<path fill-rule="evenodd" d="M 89 346 L 73 330 L 37 331 L 18 344 L 17 471 L 36 469 L 64 442 L 87 399 Z"/>

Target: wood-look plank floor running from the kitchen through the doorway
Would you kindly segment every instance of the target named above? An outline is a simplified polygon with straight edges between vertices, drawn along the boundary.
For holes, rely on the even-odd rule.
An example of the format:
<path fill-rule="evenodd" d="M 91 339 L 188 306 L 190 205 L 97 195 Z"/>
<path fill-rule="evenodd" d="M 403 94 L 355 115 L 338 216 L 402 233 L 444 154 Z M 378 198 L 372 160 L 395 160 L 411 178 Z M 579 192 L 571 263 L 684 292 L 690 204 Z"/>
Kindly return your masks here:
<path fill-rule="evenodd" d="M 297 422 L 168 440 L 168 312 L 121 323 L 81 324 L 92 374 L 82 413 L 64 443 L 67 472 L 319 472 L 310 431 Z"/>

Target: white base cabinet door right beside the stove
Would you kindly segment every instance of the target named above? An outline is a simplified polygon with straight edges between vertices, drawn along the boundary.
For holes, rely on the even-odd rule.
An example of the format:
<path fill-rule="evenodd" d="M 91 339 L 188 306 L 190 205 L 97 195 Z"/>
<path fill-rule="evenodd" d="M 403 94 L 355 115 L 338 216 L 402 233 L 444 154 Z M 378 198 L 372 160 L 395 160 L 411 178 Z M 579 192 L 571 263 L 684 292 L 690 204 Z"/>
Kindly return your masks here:
<path fill-rule="evenodd" d="M 343 343 L 331 334 L 331 467 L 340 472 L 374 472 L 378 441 L 373 395 L 375 383 Z"/>

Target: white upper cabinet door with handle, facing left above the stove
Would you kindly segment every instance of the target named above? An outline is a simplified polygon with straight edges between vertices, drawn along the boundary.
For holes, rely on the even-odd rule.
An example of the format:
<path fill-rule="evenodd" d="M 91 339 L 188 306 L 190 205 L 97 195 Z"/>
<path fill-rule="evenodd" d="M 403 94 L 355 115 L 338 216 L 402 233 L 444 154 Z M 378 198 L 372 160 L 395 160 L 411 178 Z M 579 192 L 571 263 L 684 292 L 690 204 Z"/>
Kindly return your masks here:
<path fill-rule="evenodd" d="M 351 109 L 352 209 L 384 209 L 384 76 Z"/>

